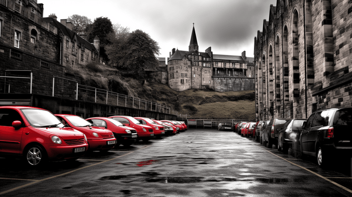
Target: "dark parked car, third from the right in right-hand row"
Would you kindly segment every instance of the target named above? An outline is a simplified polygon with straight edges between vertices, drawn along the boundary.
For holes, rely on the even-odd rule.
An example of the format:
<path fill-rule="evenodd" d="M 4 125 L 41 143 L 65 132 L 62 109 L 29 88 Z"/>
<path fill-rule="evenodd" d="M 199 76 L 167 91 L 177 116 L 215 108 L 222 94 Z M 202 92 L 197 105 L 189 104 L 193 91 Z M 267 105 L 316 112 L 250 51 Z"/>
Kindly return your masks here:
<path fill-rule="evenodd" d="M 284 124 L 291 119 L 273 118 L 269 125 L 263 130 L 262 138 L 265 146 L 272 148 L 273 144 L 278 147 L 279 131 Z"/>

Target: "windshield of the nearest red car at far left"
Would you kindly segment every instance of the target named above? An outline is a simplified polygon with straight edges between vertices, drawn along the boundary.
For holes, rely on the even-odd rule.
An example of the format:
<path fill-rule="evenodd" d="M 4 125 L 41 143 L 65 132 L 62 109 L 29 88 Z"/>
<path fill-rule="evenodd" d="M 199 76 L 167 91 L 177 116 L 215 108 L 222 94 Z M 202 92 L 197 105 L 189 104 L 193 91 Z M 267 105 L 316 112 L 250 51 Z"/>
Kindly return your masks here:
<path fill-rule="evenodd" d="M 39 109 L 22 109 L 29 124 L 33 127 L 63 127 L 63 124 L 51 112 Z"/>

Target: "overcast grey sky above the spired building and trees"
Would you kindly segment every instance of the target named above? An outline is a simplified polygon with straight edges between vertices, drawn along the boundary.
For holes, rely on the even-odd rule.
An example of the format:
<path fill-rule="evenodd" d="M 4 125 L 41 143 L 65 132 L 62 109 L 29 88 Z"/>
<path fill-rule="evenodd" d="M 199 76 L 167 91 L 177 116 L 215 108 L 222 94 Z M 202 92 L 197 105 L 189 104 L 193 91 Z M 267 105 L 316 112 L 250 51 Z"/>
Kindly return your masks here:
<path fill-rule="evenodd" d="M 277 0 L 38 0 L 44 17 L 57 20 L 74 14 L 108 17 L 113 24 L 142 30 L 160 47 L 159 57 L 169 57 L 172 48 L 188 51 L 193 23 L 199 51 L 212 47 L 213 54 L 253 57 L 254 37 L 269 20 L 270 5 Z"/>

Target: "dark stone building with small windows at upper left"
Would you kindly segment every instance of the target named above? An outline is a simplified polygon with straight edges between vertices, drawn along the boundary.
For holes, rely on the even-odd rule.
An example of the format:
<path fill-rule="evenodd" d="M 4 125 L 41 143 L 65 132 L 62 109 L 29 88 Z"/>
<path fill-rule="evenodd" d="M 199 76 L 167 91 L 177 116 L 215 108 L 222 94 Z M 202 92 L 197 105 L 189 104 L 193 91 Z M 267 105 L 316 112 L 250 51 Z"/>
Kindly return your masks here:
<path fill-rule="evenodd" d="M 96 45 L 85 41 L 69 29 L 70 23 L 62 24 L 54 15 L 43 18 L 43 10 L 36 0 L 0 1 L 0 76 L 28 77 L 31 73 L 32 93 L 50 95 L 53 76 L 79 80 L 70 72 L 72 68 L 99 61 L 99 39 Z M 0 79 L 1 92 L 30 89 L 29 79 Z M 14 83 L 23 84 L 11 86 Z M 75 91 L 72 81 L 57 80 L 55 85 L 62 87 L 60 94 L 75 94 L 65 92 L 67 85 L 66 89 Z"/>

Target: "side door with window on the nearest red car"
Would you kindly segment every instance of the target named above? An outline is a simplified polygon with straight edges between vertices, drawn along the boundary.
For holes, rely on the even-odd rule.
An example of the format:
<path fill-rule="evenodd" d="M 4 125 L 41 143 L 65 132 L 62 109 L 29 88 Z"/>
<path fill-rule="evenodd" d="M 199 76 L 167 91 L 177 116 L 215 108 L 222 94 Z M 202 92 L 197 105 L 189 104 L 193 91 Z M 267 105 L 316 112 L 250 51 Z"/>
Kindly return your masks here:
<path fill-rule="evenodd" d="M 0 152 L 19 154 L 24 127 L 14 128 L 14 121 L 23 120 L 20 114 L 13 109 L 0 109 Z"/>

